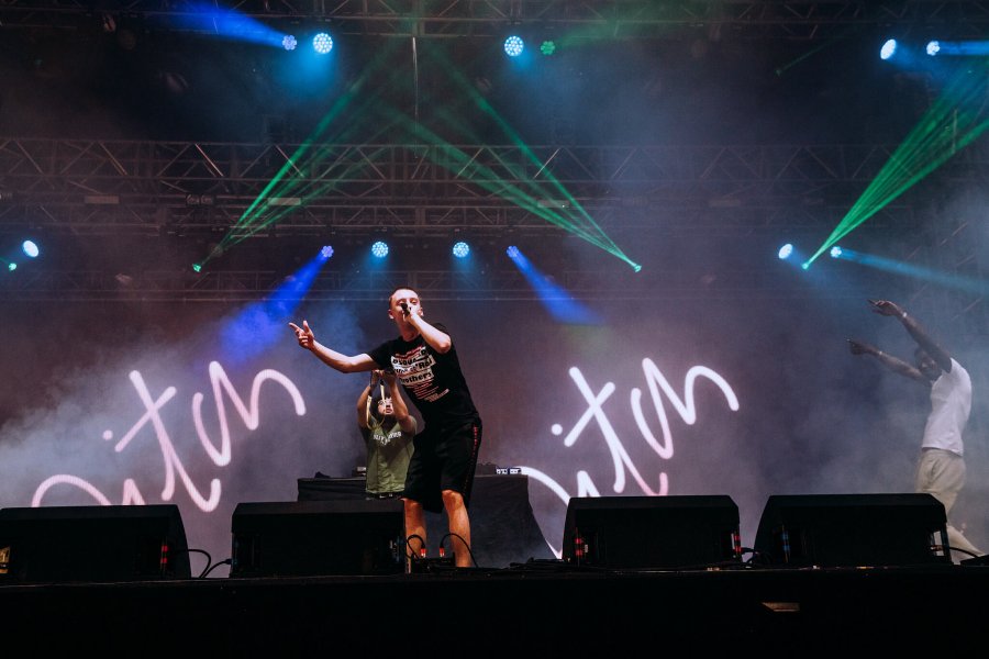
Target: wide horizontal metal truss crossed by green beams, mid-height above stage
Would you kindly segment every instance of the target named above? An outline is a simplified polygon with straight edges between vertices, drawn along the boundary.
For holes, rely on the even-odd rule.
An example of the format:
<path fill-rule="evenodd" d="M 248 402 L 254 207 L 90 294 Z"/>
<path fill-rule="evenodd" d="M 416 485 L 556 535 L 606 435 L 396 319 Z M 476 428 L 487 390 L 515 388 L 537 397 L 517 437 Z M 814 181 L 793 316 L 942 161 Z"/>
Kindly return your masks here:
<path fill-rule="evenodd" d="M 892 153 L 885 145 L 455 148 L 456 160 L 449 147 L 422 145 L 5 138 L 0 233 L 545 235 L 579 228 L 579 209 L 607 231 L 655 227 L 659 219 L 670 231 L 813 227 L 833 224 L 835 209 L 854 201 Z M 984 149 L 963 150 L 945 176 L 985 183 L 989 159 Z M 273 180 L 281 182 L 269 188 Z"/>

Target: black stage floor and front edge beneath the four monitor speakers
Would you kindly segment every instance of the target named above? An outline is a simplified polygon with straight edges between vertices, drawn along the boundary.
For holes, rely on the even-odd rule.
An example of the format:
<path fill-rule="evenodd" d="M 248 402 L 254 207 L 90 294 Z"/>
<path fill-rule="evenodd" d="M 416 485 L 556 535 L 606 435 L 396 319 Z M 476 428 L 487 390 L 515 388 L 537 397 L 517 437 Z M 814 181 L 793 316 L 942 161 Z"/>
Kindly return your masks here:
<path fill-rule="evenodd" d="M 618 571 L 533 560 L 393 576 L 9 584 L 0 611 L 4 645 L 34 656 L 913 656 L 984 647 L 987 593 L 982 566 Z"/>

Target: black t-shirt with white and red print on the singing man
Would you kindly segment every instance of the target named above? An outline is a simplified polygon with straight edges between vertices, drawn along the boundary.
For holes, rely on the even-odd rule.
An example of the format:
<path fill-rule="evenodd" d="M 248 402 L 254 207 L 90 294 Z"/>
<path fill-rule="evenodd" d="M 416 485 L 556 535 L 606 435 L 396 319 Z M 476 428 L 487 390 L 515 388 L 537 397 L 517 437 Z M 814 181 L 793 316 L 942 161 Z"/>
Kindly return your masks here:
<path fill-rule="evenodd" d="M 433 326 L 449 334 L 440 323 L 433 323 Z M 398 337 L 382 343 L 368 355 L 381 368 L 395 369 L 426 425 L 457 425 L 478 416 L 454 346 L 441 354 L 431 348 L 422 335 L 411 342 Z"/>

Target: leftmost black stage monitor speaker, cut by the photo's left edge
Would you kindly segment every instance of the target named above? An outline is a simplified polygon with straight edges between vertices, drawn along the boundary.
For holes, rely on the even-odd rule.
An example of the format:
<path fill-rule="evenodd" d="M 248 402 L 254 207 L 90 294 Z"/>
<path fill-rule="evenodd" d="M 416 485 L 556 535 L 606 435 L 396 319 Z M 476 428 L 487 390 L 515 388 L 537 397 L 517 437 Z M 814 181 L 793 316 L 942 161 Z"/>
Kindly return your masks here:
<path fill-rule="evenodd" d="M 176 505 L 0 510 L 0 583 L 189 578 Z"/>

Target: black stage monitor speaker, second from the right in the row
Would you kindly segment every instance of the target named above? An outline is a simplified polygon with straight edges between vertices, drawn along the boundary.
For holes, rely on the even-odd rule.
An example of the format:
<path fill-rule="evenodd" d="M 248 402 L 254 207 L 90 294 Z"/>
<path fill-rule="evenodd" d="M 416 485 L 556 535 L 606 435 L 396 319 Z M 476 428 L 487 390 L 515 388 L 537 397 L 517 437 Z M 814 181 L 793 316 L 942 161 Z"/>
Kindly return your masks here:
<path fill-rule="evenodd" d="M 609 569 L 740 562 L 738 506 L 726 495 L 573 498 L 563 559 Z"/>

